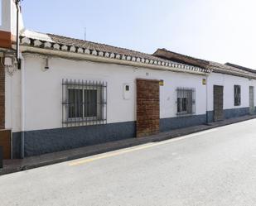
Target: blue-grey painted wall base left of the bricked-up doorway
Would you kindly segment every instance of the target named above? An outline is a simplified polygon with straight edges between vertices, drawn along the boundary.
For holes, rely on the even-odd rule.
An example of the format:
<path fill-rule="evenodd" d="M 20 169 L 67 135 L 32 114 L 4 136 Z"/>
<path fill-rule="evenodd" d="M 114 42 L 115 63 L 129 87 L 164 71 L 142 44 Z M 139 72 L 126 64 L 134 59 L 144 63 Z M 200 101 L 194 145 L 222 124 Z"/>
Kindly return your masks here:
<path fill-rule="evenodd" d="M 81 146 L 135 137 L 135 122 L 66 127 L 25 132 L 25 156 L 38 156 Z M 20 157 L 21 132 L 13 133 L 13 157 Z"/>

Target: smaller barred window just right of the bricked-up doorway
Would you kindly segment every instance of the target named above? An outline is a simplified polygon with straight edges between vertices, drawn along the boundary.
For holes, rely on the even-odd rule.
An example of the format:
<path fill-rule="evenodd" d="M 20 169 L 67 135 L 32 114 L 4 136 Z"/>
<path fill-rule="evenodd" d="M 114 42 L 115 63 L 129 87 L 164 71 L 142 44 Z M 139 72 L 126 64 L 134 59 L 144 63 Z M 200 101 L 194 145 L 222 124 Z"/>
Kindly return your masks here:
<path fill-rule="evenodd" d="M 196 113 L 196 89 L 177 88 L 176 94 L 177 115 Z"/>

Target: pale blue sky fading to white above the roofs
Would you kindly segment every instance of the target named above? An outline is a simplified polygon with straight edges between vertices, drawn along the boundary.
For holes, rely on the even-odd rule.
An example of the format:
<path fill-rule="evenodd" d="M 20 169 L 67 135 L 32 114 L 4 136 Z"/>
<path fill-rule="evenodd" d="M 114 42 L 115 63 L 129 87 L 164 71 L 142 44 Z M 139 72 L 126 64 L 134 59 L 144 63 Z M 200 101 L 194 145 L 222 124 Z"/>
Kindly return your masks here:
<path fill-rule="evenodd" d="M 254 0 L 24 0 L 28 29 L 256 69 Z"/>

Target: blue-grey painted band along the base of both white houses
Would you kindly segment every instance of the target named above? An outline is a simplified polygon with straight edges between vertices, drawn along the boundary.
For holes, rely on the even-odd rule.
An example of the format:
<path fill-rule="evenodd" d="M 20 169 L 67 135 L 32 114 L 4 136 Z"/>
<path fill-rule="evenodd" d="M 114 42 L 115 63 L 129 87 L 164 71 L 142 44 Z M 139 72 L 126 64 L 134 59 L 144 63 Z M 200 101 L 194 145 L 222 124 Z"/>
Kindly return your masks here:
<path fill-rule="evenodd" d="M 249 108 L 227 109 L 224 113 L 225 118 L 241 117 L 249 114 Z M 206 118 L 208 118 L 208 122 L 213 122 L 213 111 L 207 112 L 207 115 L 163 118 L 160 119 L 160 131 L 166 132 L 177 128 L 205 124 Z M 25 132 L 25 156 L 37 156 L 135 136 L 136 122 L 28 131 Z M 14 132 L 12 134 L 13 158 L 20 157 L 20 149 L 21 132 Z"/>

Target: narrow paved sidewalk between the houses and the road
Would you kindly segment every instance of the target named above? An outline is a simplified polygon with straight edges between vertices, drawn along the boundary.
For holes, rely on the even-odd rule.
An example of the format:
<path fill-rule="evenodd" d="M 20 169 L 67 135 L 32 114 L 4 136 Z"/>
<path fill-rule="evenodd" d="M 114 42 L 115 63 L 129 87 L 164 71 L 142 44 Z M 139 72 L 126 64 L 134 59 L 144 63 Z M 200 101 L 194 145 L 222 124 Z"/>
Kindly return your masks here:
<path fill-rule="evenodd" d="M 31 156 L 23 160 L 4 160 L 3 169 L 0 169 L 0 175 L 7 175 L 13 172 L 29 170 L 45 165 L 52 165 L 67 160 L 75 160 L 86 156 L 94 156 L 99 153 L 123 149 L 130 146 L 138 146 L 149 142 L 164 141 L 174 137 L 181 137 L 191 133 L 201 132 L 215 127 L 222 127 L 236 122 L 243 122 L 253 118 L 256 118 L 256 115 L 236 117 L 222 122 L 213 122 L 209 125 L 199 125 L 195 127 L 176 129 L 170 132 L 162 132 L 149 137 L 129 138 L 122 141 L 111 141 L 100 145 L 85 146 L 73 150 L 59 151 L 42 156 Z"/>

